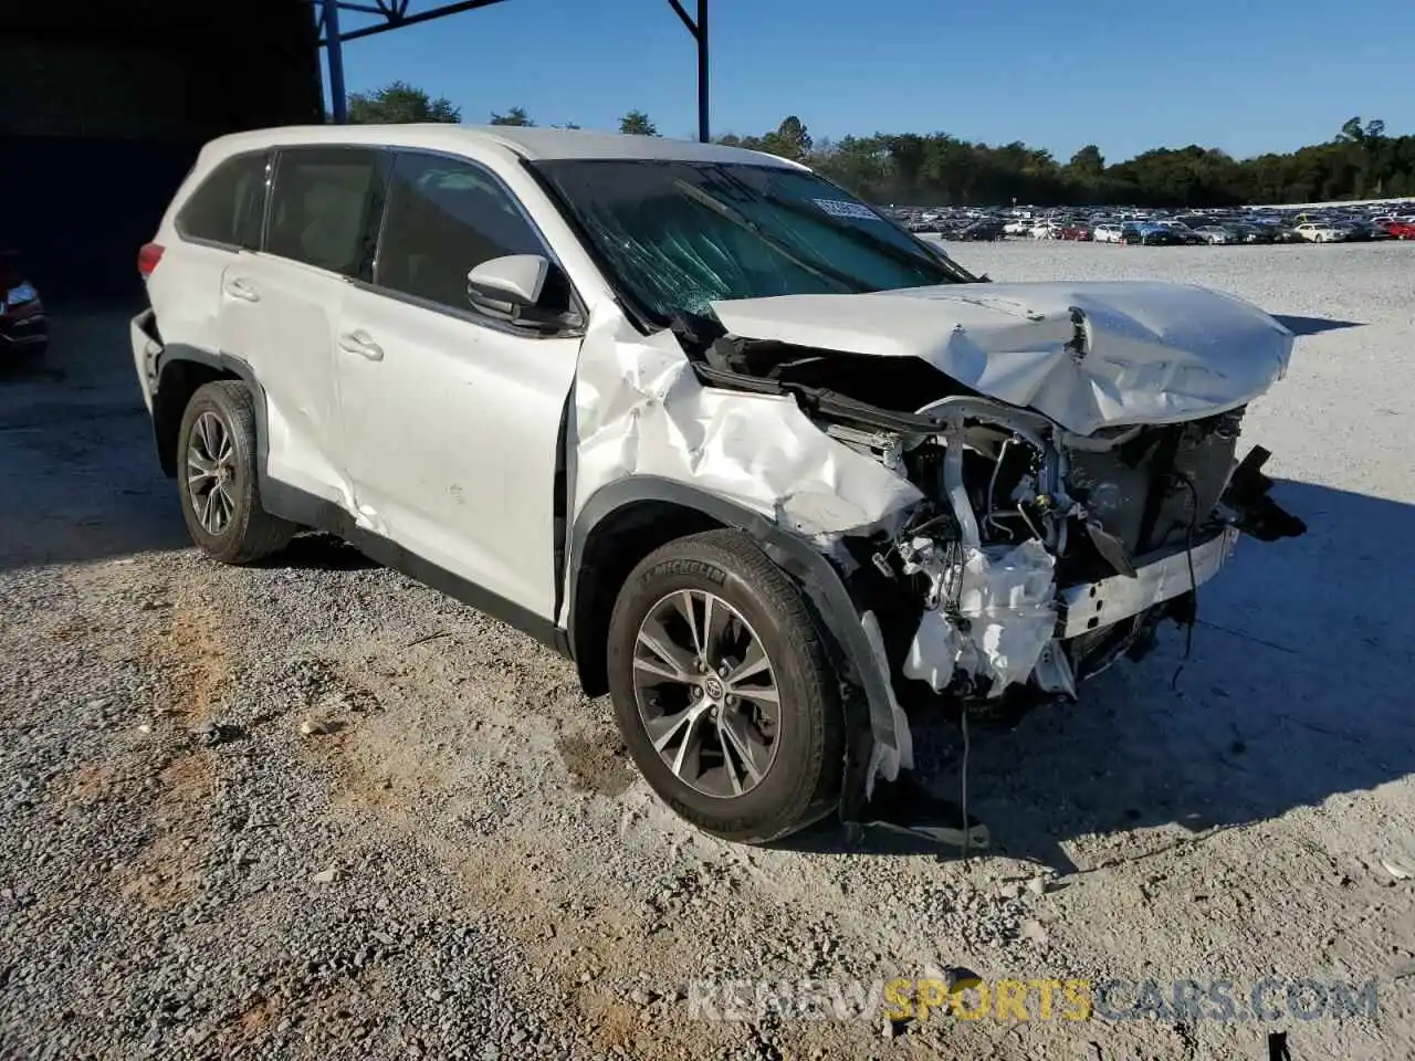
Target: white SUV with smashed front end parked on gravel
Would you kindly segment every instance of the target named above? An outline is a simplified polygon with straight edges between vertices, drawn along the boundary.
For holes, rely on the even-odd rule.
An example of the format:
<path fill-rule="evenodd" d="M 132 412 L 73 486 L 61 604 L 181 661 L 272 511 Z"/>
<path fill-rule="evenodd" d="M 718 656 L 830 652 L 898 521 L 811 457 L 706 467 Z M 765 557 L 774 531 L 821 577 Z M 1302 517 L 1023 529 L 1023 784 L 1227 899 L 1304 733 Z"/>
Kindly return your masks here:
<path fill-rule="evenodd" d="M 809 170 L 538 129 L 208 144 L 133 352 L 192 539 L 301 528 L 608 692 L 647 781 L 764 840 L 911 765 L 908 712 L 1071 697 L 1193 620 L 1292 337 L 1189 286 L 992 284 Z"/>

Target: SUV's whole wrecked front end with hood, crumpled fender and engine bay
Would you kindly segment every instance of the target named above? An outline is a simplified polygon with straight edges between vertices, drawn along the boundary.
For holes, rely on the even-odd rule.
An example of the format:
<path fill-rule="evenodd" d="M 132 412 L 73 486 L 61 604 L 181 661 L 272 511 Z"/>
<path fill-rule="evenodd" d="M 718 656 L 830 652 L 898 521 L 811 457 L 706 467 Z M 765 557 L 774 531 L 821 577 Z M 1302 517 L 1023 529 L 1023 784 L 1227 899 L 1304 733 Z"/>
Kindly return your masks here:
<path fill-rule="evenodd" d="M 1074 697 L 1165 620 L 1191 624 L 1241 532 L 1305 529 L 1268 495 L 1266 453 L 1237 461 L 1292 337 L 1228 296 L 957 284 L 712 308 L 647 337 L 591 324 L 574 512 L 649 477 L 808 546 L 869 709 L 846 816 L 913 767 L 908 712 Z"/>

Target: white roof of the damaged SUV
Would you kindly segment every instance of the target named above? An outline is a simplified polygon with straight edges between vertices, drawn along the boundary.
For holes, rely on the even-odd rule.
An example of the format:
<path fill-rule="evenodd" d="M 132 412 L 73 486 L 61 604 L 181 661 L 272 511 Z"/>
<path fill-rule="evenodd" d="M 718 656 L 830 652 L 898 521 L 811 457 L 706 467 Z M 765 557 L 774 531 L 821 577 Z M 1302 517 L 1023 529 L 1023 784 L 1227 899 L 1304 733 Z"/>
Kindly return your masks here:
<path fill-rule="evenodd" d="M 662 136 L 625 136 L 582 129 L 522 126 L 451 123 L 282 126 L 232 133 L 212 141 L 212 146 L 219 146 L 222 153 L 258 150 L 277 144 L 378 144 L 423 147 L 437 151 L 492 146 L 536 161 L 552 158 L 665 158 L 804 168 L 774 154 L 727 147 L 726 144 L 671 140 Z"/>

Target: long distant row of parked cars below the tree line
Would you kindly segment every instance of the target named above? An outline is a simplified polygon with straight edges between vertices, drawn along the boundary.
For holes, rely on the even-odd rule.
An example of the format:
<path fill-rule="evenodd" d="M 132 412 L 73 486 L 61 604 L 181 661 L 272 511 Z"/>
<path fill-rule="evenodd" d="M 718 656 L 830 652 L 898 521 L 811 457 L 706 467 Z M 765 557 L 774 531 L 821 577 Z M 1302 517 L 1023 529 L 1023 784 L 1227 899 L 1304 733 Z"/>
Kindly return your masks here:
<path fill-rule="evenodd" d="M 1177 215 L 1140 215 L 1135 211 L 920 211 L 894 208 L 911 232 L 938 233 L 944 239 L 1094 240 L 1146 246 L 1230 243 L 1348 243 L 1378 239 L 1415 239 L 1415 214 L 1336 211 L 1211 211 Z"/>

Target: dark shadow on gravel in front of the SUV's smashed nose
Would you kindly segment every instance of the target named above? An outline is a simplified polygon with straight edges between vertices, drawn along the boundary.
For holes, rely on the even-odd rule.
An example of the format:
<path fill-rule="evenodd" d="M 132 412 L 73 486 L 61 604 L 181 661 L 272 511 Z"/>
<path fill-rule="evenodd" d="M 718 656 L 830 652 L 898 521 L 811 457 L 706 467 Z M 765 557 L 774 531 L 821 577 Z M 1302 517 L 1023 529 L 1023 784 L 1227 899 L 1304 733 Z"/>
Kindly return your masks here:
<path fill-rule="evenodd" d="M 1009 733 L 974 727 L 968 811 L 989 829 L 988 853 L 1092 869 L 1415 772 L 1415 506 L 1290 481 L 1275 497 L 1307 533 L 1240 543 L 1200 589 L 1187 662 L 1170 628 L 1080 703 Z M 958 802 L 958 730 L 923 720 L 914 738 L 920 781 Z M 873 828 L 852 846 L 835 822 L 787 846 L 961 856 Z"/>

